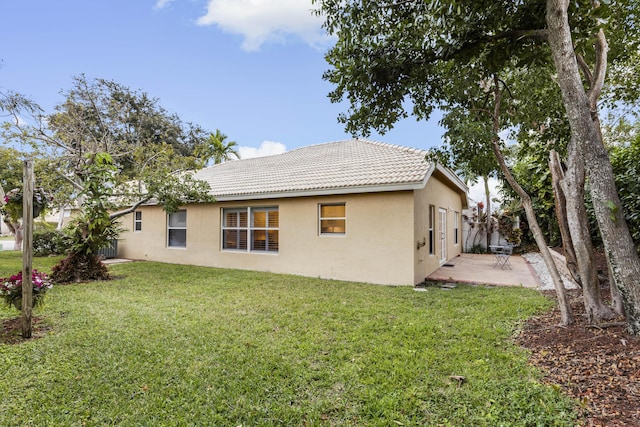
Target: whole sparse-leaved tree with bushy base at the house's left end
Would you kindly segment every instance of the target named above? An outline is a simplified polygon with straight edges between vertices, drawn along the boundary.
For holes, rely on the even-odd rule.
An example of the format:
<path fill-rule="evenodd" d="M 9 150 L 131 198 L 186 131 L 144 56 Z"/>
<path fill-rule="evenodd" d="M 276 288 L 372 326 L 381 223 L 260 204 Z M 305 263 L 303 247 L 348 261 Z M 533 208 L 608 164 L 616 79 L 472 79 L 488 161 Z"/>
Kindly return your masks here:
<path fill-rule="evenodd" d="M 8 108 L 17 117 L 17 108 Z M 117 235 L 118 218 L 141 204 L 154 199 L 173 212 L 182 204 L 213 201 L 209 185 L 188 172 L 197 165 L 194 150 L 204 132 L 144 93 L 79 76 L 53 114 L 32 119 L 35 125 L 15 121 L 6 139 L 48 159 L 49 175 L 64 182 L 67 203 L 82 207 L 71 255 L 63 271 L 56 270 L 59 280 L 99 278 L 91 257 Z M 73 276 L 73 269 L 86 277 Z"/>

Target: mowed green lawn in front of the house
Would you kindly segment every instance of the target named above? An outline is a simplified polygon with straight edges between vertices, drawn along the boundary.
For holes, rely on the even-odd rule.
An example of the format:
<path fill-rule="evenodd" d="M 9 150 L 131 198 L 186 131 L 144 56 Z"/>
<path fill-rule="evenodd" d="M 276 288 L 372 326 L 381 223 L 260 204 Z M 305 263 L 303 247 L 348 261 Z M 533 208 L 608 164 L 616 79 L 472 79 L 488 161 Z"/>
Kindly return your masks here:
<path fill-rule="evenodd" d="M 0 276 L 19 256 L 0 253 Z M 160 263 L 111 271 L 112 281 L 54 287 L 35 312 L 44 337 L 0 344 L 0 425 L 576 422 L 573 402 L 511 343 L 549 308 L 531 290 L 415 292 Z"/>

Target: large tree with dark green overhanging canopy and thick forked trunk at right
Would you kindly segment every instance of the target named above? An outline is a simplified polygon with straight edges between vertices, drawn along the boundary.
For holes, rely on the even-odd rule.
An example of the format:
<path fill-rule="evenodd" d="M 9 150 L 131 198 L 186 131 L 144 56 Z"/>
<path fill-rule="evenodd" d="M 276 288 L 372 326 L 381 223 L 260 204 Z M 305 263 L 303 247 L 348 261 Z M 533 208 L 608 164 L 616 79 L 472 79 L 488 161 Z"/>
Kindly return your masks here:
<path fill-rule="evenodd" d="M 633 333 L 640 332 L 640 284 L 633 278 L 638 277 L 640 260 L 635 253 L 635 258 L 628 258 L 630 248 L 626 243 L 619 245 L 621 241 L 628 242 L 628 232 L 623 227 L 612 227 L 621 218 L 613 215 L 611 219 L 611 215 L 603 214 L 603 207 L 613 206 L 611 214 L 618 204 L 607 158 L 595 154 L 599 143 L 595 102 L 604 79 L 603 64 L 607 62 L 602 43 L 604 31 L 616 35 L 626 32 L 621 37 L 623 42 L 612 39 L 613 51 L 633 50 L 637 41 L 628 42 L 638 38 L 634 21 L 638 5 L 630 1 L 600 6 L 553 0 L 316 3 L 319 13 L 326 16 L 325 27 L 338 36 L 336 46 L 327 54 L 332 69 L 325 78 L 336 85 L 330 98 L 336 102 L 349 100 L 349 111 L 339 120 L 353 133 L 367 134 L 371 128 L 384 132 L 410 113 L 418 119 L 428 117 L 434 108 L 447 105 L 451 88 L 467 82 L 459 79 L 460 70 L 474 76 L 499 75 L 510 80 L 512 74 L 550 69 L 550 60 L 554 60 L 553 73 L 543 73 L 543 77 L 551 80 L 557 76 L 562 103 L 569 112 L 565 116 L 569 118 L 566 123 L 573 143 L 567 150 L 567 182 L 572 184 L 569 190 L 580 195 L 587 161 L 592 198 L 598 206 L 596 210 L 600 210 L 599 226 L 604 230 L 609 260 L 617 267 L 616 284 L 624 290 L 629 327 Z M 599 42 L 594 44 L 593 40 Z M 579 62 L 580 69 L 567 67 L 563 62 L 567 58 Z M 620 59 L 624 59 L 622 55 Z M 590 62 L 595 65 L 590 67 Z M 465 86 L 463 90 L 469 88 Z M 579 99 L 572 98 L 572 94 Z M 519 98 L 520 110 L 526 111 L 524 105 L 536 101 Z M 502 126 L 494 131 L 500 129 Z M 568 199 L 580 202 L 578 197 Z M 579 212 L 577 206 L 572 208 L 572 213 Z M 573 233 L 577 240 L 582 239 L 582 229 L 574 229 Z"/>

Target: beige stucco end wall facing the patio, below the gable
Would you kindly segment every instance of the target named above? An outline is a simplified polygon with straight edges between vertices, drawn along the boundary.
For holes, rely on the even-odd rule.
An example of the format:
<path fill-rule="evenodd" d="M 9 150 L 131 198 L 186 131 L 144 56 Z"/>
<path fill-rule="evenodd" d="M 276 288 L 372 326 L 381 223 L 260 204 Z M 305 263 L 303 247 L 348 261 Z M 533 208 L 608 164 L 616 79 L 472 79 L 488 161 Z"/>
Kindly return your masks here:
<path fill-rule="evenodd" d="M 437 176 L 436 172 L 436 176 Z M 414 218 L 415 236 L 414 241 L 414 283 L 422 282 L 429 274 L 441 266 L 440 254 L 438 253 L 439 221 L 440 209 L 446 211 L 446 248 L 445 259 L 450 260 L 462 253 L 462 209 L 463 196 L 459 190 L 446 183 L 446 179 L 434 179 L 432 177 L 427 185 L 421 190 L 415 190 Z M 435 207 L 435 251 L 429 253 L 429 205 Z M 458 243 L 455 243 L 455 213 L 458 213 Z M 418 248 L 418 242 L 425 245 Z"/>

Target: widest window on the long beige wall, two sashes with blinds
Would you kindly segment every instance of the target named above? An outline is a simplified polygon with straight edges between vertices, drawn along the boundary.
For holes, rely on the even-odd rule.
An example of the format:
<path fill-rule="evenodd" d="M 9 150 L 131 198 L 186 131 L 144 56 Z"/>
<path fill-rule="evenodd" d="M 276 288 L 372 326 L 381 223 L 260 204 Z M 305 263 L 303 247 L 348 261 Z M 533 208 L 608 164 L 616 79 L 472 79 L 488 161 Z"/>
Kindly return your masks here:
<path fill-rule="evenodd" d="M 278 252 L 277 207 L 223 209 L 222 249 Z"/>

